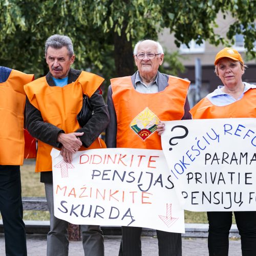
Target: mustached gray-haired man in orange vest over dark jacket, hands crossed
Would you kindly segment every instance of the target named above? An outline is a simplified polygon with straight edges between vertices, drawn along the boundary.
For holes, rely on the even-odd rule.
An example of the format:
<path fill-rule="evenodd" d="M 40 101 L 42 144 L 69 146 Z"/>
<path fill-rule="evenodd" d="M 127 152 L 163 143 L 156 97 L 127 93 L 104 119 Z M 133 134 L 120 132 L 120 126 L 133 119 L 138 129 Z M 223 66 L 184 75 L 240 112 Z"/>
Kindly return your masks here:
<path fill-rule="evenodd" d="M 68 222 L 54 216 L 52 160 L 53 147 L 61 149 L 66 162 L 72 154 L 87 148 L 105 147 L 98 138 L 109 123 L 109 113 L 99 89 L 103 78 L 70 68 L 75 55 L 68 36 L 53 35 L 46 41 L 46 62 L 50 72 L 25 87 L 26 126 L 38 139 L 36 172 L 45 183 L 50 210 L 50 231 L 47 236 L 47 255 L 68 255 Z M 77 115 L 82 108 L 83 95 L 87 95 L 94 111 L 82 127 Z M 99 226 L 81 225 L 84 253 L 104 255 L 103 234 Z"/>

